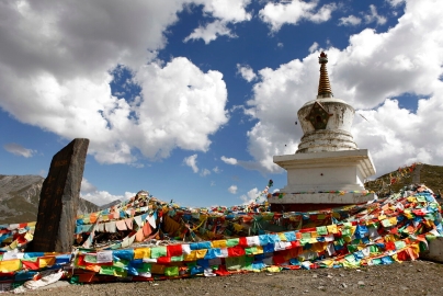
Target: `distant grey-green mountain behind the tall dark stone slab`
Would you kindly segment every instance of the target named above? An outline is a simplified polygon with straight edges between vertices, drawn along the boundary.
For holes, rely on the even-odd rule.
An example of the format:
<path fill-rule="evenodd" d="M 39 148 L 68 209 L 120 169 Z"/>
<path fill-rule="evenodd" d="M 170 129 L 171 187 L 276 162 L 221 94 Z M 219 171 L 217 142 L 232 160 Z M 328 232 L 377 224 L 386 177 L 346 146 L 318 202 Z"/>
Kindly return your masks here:
<path fill-rule="evenodd" d="M 0 174 L 0 224 L 27 223 L 37 219 L 39 175 Z M 99 210 L 99 206 L 80 197 L 79 214 Z"/>

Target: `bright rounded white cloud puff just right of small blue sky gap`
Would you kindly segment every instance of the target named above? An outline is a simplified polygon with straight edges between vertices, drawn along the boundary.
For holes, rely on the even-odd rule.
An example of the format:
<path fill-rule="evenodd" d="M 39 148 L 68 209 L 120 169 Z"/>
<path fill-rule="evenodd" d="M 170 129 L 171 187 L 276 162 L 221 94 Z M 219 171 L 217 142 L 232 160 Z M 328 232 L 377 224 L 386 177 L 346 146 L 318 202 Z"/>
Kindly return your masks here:
<path fill-rule="evenodd" d="M 174 58 L 163 68 L 145 66 L 136 80 L 143 87 L 144 101 L 130 141 L 145 156 L 168 157 L 175 146 L 206 151 L 208 136 L 228 121 L 227 90 L 218 71 L 204 73 L 190 60 Z"/>

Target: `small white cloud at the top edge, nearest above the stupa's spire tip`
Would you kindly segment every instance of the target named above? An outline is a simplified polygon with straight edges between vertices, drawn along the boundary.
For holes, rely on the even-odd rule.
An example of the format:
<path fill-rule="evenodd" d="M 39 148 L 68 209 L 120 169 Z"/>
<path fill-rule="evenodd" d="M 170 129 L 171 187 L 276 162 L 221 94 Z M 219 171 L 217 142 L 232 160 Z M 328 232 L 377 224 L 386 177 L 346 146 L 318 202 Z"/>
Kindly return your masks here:
<path fill-rule="evenodd" d="M 291 2 L 269 2 L 259 11 L 260 19 L 271 26 L 271 31 L 277 32 L 284 24 L 296 25 L 306 20 L 314 23 L 322 23 L 331 18 L 337 5 L 325 4 L 316 11 L 318 1 L 304 2 L 293 0 Z"/>

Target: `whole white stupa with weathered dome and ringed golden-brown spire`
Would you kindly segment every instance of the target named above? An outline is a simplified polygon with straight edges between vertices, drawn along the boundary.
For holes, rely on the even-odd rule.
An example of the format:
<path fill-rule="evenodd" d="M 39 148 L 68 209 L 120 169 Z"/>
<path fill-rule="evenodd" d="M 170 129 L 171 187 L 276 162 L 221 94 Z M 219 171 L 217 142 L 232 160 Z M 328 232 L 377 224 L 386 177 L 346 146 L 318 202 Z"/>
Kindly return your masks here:
<path fill-rule="evenodd" d="M 364 180 L 375 174 L 367 149 L 359 149 L 351 134 L 354 109 L 333 98 L 326 64 L 319 57 L 320 81 L 316 100 L 298 110 L 304 136 L 294 155 L 274 156 L 287 171 L 283 195 L 272 196 L 272 210 L 316 210 L 360 204 L 374 198 Z"/>

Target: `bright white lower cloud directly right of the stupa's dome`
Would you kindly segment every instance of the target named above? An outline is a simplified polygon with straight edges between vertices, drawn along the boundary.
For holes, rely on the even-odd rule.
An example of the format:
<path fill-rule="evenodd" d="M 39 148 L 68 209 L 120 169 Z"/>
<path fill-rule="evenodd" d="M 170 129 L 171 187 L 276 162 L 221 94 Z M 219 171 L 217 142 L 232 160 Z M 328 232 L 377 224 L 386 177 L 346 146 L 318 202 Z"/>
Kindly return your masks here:
<path fill-rule="evenodd" d="M 354 139 L 360 147 L 370 147 L 378 174 L 412 162 L 443 164 L 439 143 L 443 118 L 443 86 L 430 99 L 419 101 L 417 113 L 401 109 L 387 99 L 373 111 L 360 111 L 367 119 L 355 117 Z M 432 118 L 432 121 L 430 121 Z"/>

